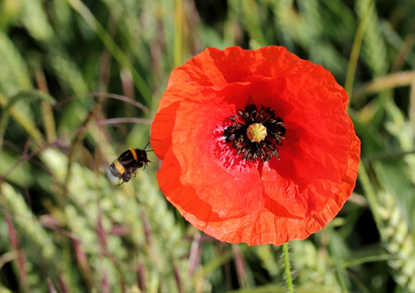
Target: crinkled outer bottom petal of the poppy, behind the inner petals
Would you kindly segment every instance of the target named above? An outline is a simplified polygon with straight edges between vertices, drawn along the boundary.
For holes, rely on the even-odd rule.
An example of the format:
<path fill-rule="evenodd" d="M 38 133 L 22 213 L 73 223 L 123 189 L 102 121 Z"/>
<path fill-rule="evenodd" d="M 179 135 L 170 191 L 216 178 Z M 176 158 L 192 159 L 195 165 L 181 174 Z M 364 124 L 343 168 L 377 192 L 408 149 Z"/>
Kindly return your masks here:
<path fill-rule="evenodd" d="M 323 210 L 308 217 L 290 215 L 285 208 L 265 195 L 264 208 L 243 217 L 221 218 L 208 203 L 198 198 L 193 188 L 181 184 L 180 164 L 171 149 L 163 161 L 163 168 L 157 173 L 157 179 L 168 201 L 186 220 L 220 241 L 281 245 L 290 240 L 302 240 L 325 227 L 337 215 L 354 189 L 359 168 L 360 141 L 352 132 L 351 121 L 349 129 L 351 144 L 342 184 L 333 198 L 327 200 Z"/>

